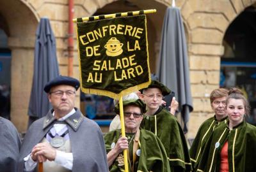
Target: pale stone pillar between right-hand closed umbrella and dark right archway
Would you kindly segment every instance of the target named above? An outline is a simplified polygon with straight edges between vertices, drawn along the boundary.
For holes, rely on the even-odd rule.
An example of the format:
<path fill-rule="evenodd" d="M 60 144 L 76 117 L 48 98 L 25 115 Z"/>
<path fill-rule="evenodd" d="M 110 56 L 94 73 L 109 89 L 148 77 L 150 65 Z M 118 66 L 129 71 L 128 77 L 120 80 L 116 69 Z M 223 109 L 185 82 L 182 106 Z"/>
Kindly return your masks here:
<path fill-rule="evenodd" d="M 256 1 L 219 0 L 184 1 L 182 17 L 188 26 L 188 51 L 194 111 L 189 120 L 188 138 L 212 117 L 209 95 L 219 87 L 223 37 L 228 26 L 241 11 Z"/>

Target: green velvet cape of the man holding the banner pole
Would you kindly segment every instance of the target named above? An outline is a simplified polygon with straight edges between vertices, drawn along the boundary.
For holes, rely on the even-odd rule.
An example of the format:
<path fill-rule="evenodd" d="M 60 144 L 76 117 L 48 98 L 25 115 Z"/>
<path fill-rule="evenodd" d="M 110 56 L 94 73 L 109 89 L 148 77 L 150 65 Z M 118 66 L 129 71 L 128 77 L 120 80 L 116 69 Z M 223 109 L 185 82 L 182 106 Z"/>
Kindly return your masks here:
<path fill-rule="evenodd" d="M 121 136 L 120 129 L 111 131 L 104 136 L 107 153 L 111 150 L 111 144 L 116 143 Z M 168 159 L 163 144 L 154 134 L 141 129 L 140 143 L 138 149 L 141 150 L 140 156 L 137 155 L 134 163 L 134 171 L 140 172 L 170 172 Z M 129 166 L 130 168 L 130 166 Z M 118 166 L 118 161 L 114 161 L 109 167 L 110 172 L 124 171 L 124 166 Z M 129 169 L 131 171 L 131 169 Z"/>

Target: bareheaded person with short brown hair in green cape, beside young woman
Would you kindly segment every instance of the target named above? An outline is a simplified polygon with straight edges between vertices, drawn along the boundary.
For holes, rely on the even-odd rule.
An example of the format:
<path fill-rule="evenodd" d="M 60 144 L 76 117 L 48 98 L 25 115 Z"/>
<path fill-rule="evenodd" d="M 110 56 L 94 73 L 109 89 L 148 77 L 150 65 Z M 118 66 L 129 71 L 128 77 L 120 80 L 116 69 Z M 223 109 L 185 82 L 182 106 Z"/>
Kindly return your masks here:
<path fill-rule="evenodd" d="M 214 111 L 214 116 L 205 120 L 199 127 L 195 140 L 189 150 L 193 171 L 196 171 L 198 162 L 200 161 L 205 143 L 212 134 L 212 131 L 220 124 L 227 123 L 226 99 L 228 96 L 227 89 L 215 89 L 211 92 L 210 101 Z"/>

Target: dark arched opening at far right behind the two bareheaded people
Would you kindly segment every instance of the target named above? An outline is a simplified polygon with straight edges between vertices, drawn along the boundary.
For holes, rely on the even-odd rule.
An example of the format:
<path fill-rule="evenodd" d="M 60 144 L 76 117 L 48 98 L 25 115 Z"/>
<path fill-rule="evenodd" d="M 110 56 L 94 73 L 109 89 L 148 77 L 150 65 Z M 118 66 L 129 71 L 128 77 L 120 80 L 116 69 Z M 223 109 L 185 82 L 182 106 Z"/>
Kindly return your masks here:
<path fill-rule="evenodd" d="M 239 87 L 248 97 L 251 114 L 246 120 L 256 125 L 256 9 L 246 8 L 228 27 L 221 57 L 221 87 Z"/>

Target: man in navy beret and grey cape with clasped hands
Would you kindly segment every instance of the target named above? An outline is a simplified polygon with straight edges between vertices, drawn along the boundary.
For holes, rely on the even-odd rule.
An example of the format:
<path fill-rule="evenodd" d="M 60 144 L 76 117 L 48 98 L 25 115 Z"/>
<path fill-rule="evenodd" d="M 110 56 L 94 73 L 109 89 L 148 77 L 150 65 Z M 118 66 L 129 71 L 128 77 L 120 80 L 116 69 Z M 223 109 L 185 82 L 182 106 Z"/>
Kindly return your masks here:
<path fill-rule="evenodd" d="M 52 110 L 33 122 L 20 149 L 19 171 L 108 171 L 99 126 L 74 107 L 79 81 L 58 76 L 44 87 Z"/>

